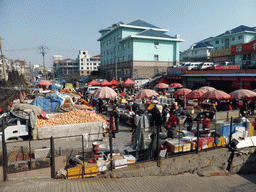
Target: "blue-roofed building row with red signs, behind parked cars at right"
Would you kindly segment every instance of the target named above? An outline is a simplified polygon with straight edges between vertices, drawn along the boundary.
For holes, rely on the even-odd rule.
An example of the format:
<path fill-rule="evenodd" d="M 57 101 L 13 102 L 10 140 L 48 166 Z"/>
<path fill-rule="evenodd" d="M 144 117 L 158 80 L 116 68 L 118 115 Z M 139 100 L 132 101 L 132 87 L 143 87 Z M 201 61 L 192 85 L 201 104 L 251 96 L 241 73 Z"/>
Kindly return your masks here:
<path fill-rule="evenodd" d="M 213 62 L 230 61 L 234 64 L 256 64 L 256 27 L 238 26 L 216 36 L 196 43 L 181 53 L 183 60 L 203 61 L 209 58 Z M 254 47 L 255 46 L 255 47 Z M 200 50 L 200 52 L 199 52 Z"/>

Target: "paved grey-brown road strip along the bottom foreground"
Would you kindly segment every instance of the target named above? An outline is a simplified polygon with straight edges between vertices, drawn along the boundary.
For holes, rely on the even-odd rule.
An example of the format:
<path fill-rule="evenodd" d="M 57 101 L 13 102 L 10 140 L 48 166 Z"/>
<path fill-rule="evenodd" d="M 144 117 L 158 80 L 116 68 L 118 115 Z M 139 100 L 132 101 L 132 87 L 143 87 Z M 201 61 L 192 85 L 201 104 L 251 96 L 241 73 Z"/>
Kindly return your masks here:
<path fill-rule="evenodd" d="M 199 177 L 196 174 L 122 179 L 35 179 L 0 182 L 0 191 L 255 191 L 256 175 Z"/>

